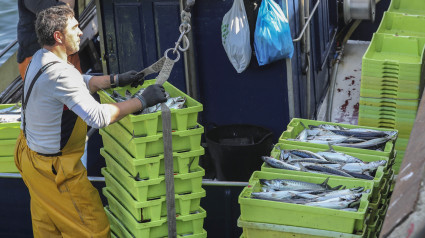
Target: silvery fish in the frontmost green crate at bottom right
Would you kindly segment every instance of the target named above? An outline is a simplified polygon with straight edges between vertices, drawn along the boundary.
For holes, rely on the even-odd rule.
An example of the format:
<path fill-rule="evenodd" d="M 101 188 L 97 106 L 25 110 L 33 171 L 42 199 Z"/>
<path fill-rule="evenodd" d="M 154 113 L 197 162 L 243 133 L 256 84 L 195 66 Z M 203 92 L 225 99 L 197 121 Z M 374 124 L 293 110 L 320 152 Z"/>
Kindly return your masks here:
<path fill-rule="evenodd" d="M 288 179 L 260 179 L 261 191 L 252 192 L 251 198 L 277 202 L 301 204 L 344 211 L 357 211 L 363 193 L 370 193 L 363 187 L 331 188 L 327 178 L 322 184 Z"/>

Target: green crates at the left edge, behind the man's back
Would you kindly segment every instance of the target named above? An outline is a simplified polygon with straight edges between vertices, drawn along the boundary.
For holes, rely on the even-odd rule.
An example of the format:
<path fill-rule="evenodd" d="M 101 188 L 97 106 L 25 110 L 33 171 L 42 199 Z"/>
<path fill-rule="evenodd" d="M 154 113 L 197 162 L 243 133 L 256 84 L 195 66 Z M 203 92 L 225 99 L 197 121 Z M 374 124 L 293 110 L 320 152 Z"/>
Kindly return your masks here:
<path fill-rule="evenodd" d="M 15 104 L 0 104 L 0 110 Z M 0 173 L 17 173 L 14 153 L 21 122 L 0 123 Z"/>

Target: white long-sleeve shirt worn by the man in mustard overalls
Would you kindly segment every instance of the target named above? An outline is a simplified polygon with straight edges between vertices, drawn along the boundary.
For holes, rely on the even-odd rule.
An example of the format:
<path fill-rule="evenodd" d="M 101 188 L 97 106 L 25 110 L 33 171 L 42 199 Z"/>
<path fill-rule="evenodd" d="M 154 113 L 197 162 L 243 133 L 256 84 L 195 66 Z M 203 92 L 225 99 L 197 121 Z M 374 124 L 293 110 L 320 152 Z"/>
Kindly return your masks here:
<path fill-rule="evenodd" d="M 75 114 L 94 128 L 105 127 L 111 121 L 109 108 L 90 94 L 88 82 L 91 76 L 81 75 L 73 65 L 44 48 L 34 54 L 28 67 L 24 96 L 38 70 L 52 61 L 60 63 L 40 75 L 25 110 L 27 144 L 32 150 L 44 154 L 57 153 L 64 146 L 61 143 L 67 140 L 63 137 L 70 136 Z"/>

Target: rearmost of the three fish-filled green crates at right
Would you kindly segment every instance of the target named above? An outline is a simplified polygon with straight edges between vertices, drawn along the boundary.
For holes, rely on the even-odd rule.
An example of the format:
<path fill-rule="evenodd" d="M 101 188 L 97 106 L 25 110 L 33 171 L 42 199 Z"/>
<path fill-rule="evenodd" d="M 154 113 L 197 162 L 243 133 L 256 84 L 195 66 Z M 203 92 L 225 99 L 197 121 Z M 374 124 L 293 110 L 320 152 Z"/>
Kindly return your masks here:
<path fill-rule="evenodd" d="M 296 138 L 299 135 L 299 133 L 305 129 L 301 125 L 300 122 L 302 122 L 307 127 L 309 125 L 318 126 L 320 124 L 329 124 L 329 125 L 339 125 L 339 126 L 342 126 L 342 127 L 345 127 L 345 128 L 365 128 L 365 129 L 373 129 L 373 130 L 380 130 L 380 131 L 391 131 L 391 130 L 393 130 L 393 129 L 384 129 L 384 128 L 376 128 L 376 127 L 348 125 L 348 124 L 342 124 L 342 123 L 333 123 L 333 122 L 324 122 L 324 121 L 314 121 L 314 120 L 293 118 L 289 122 L 286 131 L 284 131 L 282 133 L 282 135 L 280 136 L 279 143 L 299 145 L 299 146 L 310 147 L 310 148 L 319 148 L 319 149 L 323 149 L 323 150 L 329 149 L 328 145 L 287 140 L 287 139 Z M 394 144 L 393 144 L 392 141 L 387 142 L 387 144 L 385 145 L 384 151 L 349 148 L 349 147 L 342 147 L 342 146 L 333 146 L 333 148 L 337 149 L 337 150 L 344 148 L 345 152 L 353 152 L 353 153 L 359 153 L 359 154 L 369 154 L 369 155 L 376 155 L 376 156 L 382 156 L 382 157 L 391 157 L 394 153 L 394 150 L 393 150 Z"/>

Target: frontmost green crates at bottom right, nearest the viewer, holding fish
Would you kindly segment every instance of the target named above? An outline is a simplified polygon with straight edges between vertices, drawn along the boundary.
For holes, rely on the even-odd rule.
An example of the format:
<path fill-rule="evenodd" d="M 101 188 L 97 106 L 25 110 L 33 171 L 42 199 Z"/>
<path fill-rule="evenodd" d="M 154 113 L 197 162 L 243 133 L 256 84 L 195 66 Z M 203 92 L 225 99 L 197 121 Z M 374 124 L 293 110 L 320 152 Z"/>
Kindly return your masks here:
<path fill-rule="evenodd" d="M 245 237 L 360 238 L 367 234 L 369 203 L 371 193 L 374 191 L 373 181 L 329 178 L 328 184 L 331 187 L 361 186 L 370 191 L 361 197 L 358 211 L 352 212 L 251 198 L 251 193 L 261 190 L 260 179 L 291 179 L 320 184 L 326 178 L 315 175 L 255 171 L 249 180 L 249 185 L 239 195 L 241 216 L 238 219 L 238 226 L 242 227 Z"/>

